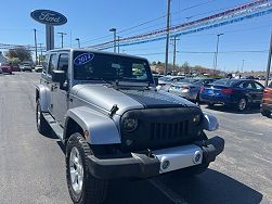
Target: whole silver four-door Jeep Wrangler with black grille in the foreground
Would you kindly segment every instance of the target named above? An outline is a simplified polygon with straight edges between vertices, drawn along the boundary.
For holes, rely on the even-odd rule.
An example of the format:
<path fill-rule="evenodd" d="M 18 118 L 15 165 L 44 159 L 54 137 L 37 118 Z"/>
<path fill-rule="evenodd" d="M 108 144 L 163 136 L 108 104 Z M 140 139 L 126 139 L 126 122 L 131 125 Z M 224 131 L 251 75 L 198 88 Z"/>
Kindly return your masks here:
<path fill-rule="evenodd" d="M 224 149 L 216 117 L 156 90 L 146 59 L 62 49 L 47 53 L 36 89 L 37 128 L 66 146 L 74 203 L 105 200 L 113 178 L 203 173 Z M 51 131 L 52 132 L 52 131 Z"/>

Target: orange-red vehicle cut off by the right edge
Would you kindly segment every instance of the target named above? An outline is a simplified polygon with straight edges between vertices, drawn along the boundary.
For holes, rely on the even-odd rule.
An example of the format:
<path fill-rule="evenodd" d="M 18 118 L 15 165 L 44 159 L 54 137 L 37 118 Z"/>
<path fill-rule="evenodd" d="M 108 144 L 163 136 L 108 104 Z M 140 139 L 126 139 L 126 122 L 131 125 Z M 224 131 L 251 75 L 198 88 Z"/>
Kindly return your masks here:
<path fill-rule="evenodd" d="M 272 113 L 272 82 L 264 89 L 261 103 L 261 114 L 270 116 Z"/>

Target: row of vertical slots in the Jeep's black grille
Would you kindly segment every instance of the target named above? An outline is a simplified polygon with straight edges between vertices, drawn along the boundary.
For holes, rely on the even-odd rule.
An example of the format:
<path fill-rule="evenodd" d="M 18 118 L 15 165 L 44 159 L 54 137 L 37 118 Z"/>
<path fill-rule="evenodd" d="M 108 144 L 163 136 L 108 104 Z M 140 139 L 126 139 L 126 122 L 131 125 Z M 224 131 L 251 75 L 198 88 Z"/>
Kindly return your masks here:
<path fill-rule="evenodd" d="M 183 138 L 189 135 L 189 120 L 165 124 L 151 123 L 150 124 L 150 140 L 167 140 Z"/>

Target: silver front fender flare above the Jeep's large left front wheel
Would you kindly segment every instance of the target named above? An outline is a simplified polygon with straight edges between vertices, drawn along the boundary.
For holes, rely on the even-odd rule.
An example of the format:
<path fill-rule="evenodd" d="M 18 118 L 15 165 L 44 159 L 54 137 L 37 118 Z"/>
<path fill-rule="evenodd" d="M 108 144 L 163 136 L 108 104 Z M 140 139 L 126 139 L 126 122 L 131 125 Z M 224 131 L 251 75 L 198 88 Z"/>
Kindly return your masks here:
<path fill-rule="evenodd" d="M 68 110 L 65 119 L 64 137 L 67 132 L 68 120 L 76 122 L 83 131 L 88 130 L 87 142 L 90 144 L 116 144 L 121 143 L 118 128 L 107 115 L 101 114 L 87 106 L 79 106 Z"/>

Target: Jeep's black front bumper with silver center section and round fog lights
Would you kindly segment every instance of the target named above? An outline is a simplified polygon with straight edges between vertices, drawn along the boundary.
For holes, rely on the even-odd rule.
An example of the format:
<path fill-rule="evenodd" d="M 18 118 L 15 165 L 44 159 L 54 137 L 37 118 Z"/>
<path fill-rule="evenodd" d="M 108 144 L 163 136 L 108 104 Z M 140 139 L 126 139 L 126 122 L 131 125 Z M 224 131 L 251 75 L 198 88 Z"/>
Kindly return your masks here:
<path fill-rule="evenodd" d="M 147 178 L 159 174 L 208 164 L 224 149 L 224 140 L 213 137 L 195 144 L 131 153 L 114 158 L 88 156 L 90 173 L 100 179 Z"/>

